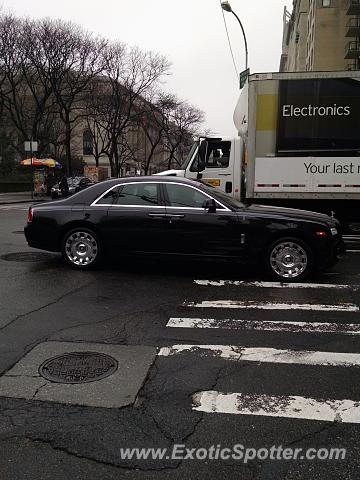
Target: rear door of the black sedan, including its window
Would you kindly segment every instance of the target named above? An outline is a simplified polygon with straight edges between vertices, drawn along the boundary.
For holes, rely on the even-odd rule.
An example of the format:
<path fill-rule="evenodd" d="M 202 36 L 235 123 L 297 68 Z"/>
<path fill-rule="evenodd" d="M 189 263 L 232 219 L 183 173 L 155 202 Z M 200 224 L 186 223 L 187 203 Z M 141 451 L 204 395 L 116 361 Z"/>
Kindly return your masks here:
<path fill-rule="evenodd" d="M 127 182 L 108 209 L 106 237 L 114 253 L 158 253 L 166 233 L 166 210 L 157 182 Z"/>

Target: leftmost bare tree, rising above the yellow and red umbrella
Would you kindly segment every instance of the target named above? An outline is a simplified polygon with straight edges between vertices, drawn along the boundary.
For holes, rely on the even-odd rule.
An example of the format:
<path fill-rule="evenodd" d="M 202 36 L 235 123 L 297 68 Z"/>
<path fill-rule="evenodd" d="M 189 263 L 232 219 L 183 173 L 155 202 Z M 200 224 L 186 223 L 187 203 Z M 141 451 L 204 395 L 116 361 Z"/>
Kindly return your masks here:
<path fill-rule="evenodd" d="M 38 140 L 40 154 L 48 152 L 55 131 L 57 110 L 40 47 L 37 22 L 0 17 L 1 105 L 17 132 L 13 141 L 21 154 L 26 139 Z"/>

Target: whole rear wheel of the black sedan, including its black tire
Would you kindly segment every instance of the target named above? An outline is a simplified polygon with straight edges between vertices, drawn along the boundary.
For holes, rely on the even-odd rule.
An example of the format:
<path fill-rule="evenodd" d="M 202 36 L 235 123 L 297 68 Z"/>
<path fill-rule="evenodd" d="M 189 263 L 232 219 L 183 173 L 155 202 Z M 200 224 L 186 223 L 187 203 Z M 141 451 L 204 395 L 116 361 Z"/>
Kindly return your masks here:
<path fill-rule="evenodd" d="M 61 254 L 75 270 L 91 270 L 101 262 L 101 242 L 93 230 L 79 226 L 64 235 Z"/>

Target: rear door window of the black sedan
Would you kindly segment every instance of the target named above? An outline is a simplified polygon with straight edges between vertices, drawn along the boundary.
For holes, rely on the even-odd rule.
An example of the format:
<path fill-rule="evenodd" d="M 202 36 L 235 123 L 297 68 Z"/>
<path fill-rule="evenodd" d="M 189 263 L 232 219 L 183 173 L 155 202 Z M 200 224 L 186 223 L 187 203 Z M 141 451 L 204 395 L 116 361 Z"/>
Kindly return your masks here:
<path fill-rule="evenodd" d="M 159 205 L 158 185 L 156 183 L 129 183 L 121 189 L 116 205 Z"/>

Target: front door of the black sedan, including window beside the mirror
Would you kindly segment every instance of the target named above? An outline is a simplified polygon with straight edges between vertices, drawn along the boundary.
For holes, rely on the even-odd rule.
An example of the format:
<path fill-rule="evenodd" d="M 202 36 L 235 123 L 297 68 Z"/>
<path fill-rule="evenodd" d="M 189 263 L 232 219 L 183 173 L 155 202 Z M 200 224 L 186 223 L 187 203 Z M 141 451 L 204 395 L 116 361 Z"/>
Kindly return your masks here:
<path fill-rule="evenodd" d="M 209 211 L 204 204 L 214 199 L 192 185 L 169 182 L 163 189 L 169 221 L 168 253 L 243 256 L 244 224 L 236 211 L 216 200 L 216 211 Z"/>

